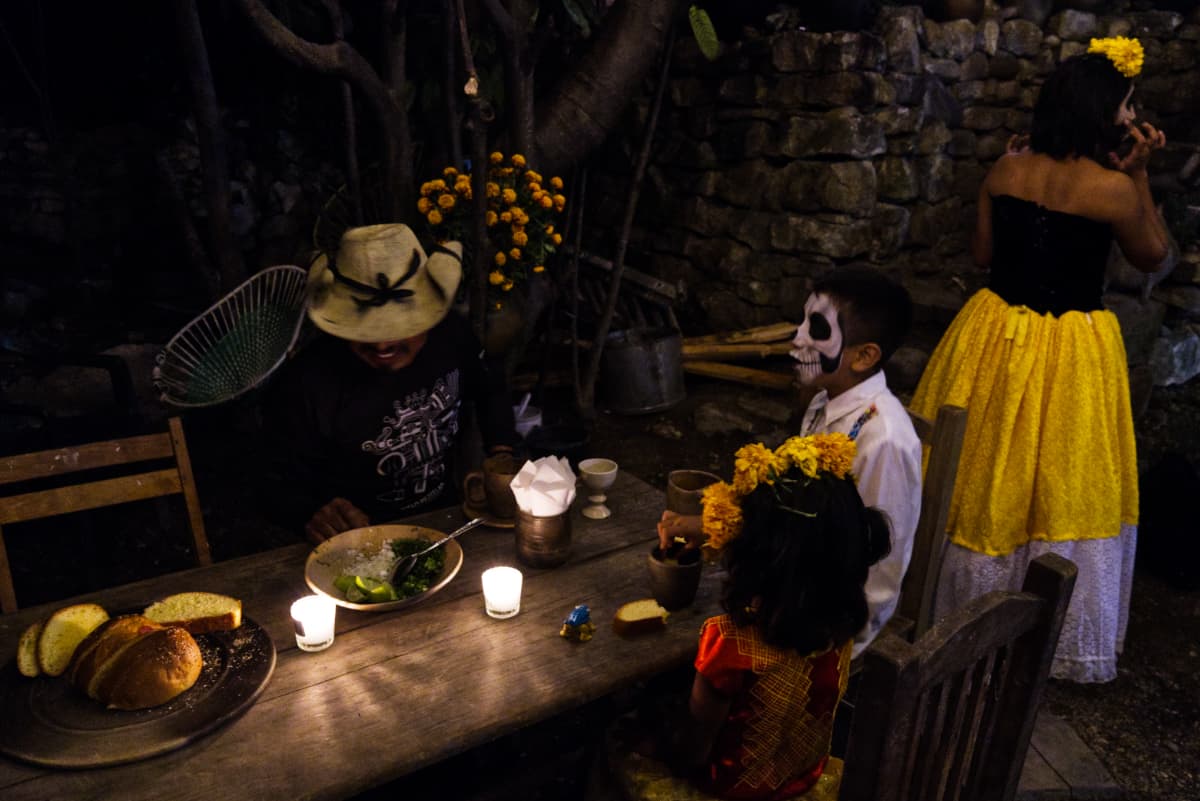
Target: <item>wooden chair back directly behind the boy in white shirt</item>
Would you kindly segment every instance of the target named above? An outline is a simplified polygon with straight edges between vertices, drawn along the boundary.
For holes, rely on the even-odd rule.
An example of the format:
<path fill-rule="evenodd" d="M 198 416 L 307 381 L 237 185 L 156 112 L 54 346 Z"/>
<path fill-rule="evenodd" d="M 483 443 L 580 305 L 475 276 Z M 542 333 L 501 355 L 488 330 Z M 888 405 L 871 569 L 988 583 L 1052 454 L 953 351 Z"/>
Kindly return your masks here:
<path fill-rule="evenodd" d="M 962 454 L 962 436 L 967 430 L 967 410 L 944 405 L 932 421 L 913 411 L 908 416 L 917 436 L 929 447 L 929 458 L 920 487 L 920 516 L 913 534 L 912 559 L 900 586 L 896 614 L 912 622 L 911 636 L 917 638 L 934 622 L 934 589 L 942 568 L 946 525 Z"/>

